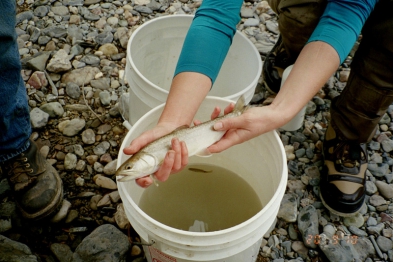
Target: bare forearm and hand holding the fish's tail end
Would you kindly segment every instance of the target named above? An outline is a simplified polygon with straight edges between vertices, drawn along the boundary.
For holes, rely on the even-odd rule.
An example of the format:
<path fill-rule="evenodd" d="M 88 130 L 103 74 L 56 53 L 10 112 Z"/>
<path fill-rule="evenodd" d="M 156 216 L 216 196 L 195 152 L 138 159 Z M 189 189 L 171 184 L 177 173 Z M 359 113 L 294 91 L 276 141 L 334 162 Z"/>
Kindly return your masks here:
<path fill-rule="evenodd" d="M 227 133 L 209 150 L 221 152 L 289 122 L 326 83 L 339 63 L 336 50 L 329 44 L 320 41 L 307 44 L 273 103 L 216 123 L 216 130 Z"/>

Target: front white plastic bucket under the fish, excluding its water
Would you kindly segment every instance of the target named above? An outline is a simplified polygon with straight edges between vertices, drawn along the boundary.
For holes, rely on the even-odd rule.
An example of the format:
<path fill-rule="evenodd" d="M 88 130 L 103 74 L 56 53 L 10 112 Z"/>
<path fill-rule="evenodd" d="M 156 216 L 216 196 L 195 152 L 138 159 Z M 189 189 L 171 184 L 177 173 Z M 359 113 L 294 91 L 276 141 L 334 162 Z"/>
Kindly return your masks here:
<path fill-rule="evenodd" d="M 208 120 L 215 106 L 224 108 L 229 102 L 230 100 L 223 98 L 207 97 L 196 118 Z M 118 167 L 129 157 L 122 153 L 124 147 L 143 131 L 152 128 L 162 109 L 163 105 L 152 109 L 131 128 L 120 148 Z M 263 209 L 250 219 L 228 229 L 189 232 L 169 227 L 148 216 L 138 207 L 146 189 L 135 182 L 118 182 L 120 197 L 132 227 L 142 241 L 155 243 L 150 247 L 144 246 L 148 261 L 254 262 L 263 235 L 276 219 L 287 184 L 286 158 L 277 133 L 272 131 L 263 134 L 208 158 L 193 156 L 189 162 L 212 164 L 238 174 L 255 190 Z"/>

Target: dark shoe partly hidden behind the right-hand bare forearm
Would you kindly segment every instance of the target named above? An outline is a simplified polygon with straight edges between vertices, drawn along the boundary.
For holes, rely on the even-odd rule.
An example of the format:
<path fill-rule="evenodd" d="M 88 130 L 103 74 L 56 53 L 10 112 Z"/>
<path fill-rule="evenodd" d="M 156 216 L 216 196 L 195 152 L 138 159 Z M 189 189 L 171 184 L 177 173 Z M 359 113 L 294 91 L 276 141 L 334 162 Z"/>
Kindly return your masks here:
<path fill-rule="evenodd" d="M 263 62 L 263 84 L 269 92 L 277 94 L 280 91 L 282 74 L 288 66 L 294 63 L 295 59 L 289 58 L 280 35 Z"/>

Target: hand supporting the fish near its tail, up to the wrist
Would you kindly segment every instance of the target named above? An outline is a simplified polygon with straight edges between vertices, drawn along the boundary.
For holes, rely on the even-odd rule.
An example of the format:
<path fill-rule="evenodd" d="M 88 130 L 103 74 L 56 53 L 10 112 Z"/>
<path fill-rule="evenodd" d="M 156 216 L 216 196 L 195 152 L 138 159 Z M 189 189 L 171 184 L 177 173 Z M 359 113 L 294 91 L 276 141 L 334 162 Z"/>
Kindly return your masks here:
<path fill-rule="evenodd" d="M 227 131 L 225 135 L 211 145 L 211 153 L 219 153 L 229 147 L 243 143 L 256 136 L 283 126 L 287 118 L 272 106 L 251 107 L 242 115 L 226 118 L 214 125 L 217 131 Z"/>

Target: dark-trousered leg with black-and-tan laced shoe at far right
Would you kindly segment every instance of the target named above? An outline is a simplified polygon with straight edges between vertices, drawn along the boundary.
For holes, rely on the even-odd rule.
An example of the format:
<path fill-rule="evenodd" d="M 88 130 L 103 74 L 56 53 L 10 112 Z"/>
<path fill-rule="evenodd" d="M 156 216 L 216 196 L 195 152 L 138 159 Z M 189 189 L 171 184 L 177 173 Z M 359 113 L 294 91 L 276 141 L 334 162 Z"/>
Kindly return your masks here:
<path fill-rule="evenodd" d="M 333 212 L 351 215 L 365 194 L 369 142 L 393 102 L 393 1 L 381 0 L 362 30 L 346 87 L 333 100 L 325 135 L 321 196 Z"/>

